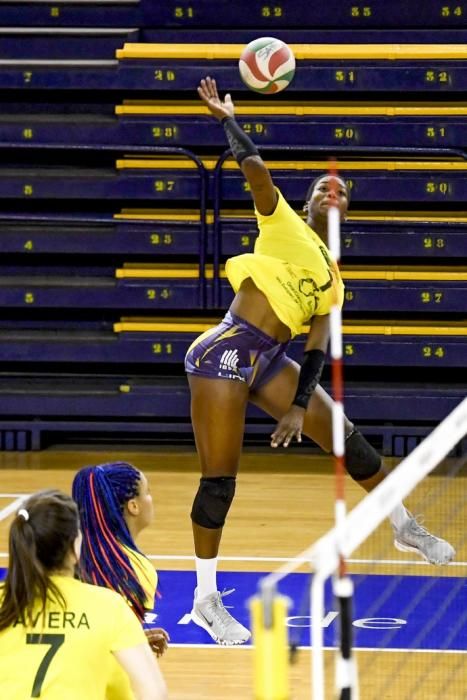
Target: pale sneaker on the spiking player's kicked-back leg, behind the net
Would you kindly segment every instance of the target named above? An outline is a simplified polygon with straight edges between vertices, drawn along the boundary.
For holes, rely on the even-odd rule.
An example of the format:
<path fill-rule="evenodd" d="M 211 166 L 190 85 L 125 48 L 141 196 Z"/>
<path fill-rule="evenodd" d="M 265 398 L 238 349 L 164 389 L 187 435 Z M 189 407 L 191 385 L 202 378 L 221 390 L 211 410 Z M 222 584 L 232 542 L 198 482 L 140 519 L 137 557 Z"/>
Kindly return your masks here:
<path fill-rule="evenodd" d="M 456 550 L 449 542 L 435 537 L 421 526 L 420 520 L 411 517 L 401 528 L 393 525 L 394 545 L 401 552 L 416 552 L 430 564 L 448 564 Z"/>

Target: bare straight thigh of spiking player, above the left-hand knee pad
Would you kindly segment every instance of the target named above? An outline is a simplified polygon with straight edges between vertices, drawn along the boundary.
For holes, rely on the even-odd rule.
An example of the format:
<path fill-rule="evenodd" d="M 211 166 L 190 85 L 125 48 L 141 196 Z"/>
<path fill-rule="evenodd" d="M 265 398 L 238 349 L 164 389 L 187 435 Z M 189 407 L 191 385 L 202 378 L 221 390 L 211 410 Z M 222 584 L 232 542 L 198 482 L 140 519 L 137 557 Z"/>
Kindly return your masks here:
<path fill-rule="evenodd" d="M 191 420 L 205 476 L 237 473 L 245 430 L 248 386 L 229 379 L 188 375 Z"/>

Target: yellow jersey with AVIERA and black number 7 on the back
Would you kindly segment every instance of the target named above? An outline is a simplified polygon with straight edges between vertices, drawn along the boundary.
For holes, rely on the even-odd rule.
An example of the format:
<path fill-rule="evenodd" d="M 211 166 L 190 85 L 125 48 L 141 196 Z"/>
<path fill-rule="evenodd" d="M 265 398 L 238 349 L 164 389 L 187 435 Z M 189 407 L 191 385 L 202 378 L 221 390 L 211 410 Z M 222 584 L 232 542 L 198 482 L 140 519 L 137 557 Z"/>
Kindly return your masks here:
<path fill-rule="evenodd" d="M 117 663 L 110 652 L 145 643 L 145 634 L 118 593 L 70 576 L 52 580 L 65 609 L 51 600 L 44 619 L 37 614 L 32 626 L 18 620 L 0 632 L 1 696 L 102 700 L 111 663 Z"/>

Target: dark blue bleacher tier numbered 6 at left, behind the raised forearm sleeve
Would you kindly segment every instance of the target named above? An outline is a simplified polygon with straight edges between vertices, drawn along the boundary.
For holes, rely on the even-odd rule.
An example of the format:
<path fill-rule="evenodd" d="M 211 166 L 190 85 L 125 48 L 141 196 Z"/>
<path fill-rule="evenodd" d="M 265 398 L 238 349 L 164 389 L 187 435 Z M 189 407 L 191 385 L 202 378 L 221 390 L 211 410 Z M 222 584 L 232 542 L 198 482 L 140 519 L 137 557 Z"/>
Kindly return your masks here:
<path fill-rule="evenodd" d="M 306 105 L 303 105 L 306 106 Z M 312 107 L 312 105 L 311 105 Z M 29 108 L 31 109 L 31 108 Z M 0 140 L 29 146 L 48 144 L 71 146 L 183 146 L 185 148 L 225 147 L 225 135 L 212 117 L 197 114 L 198 105 L 190 116 L 174 113 L 157 113 L 151 116 L 138 115 L 137 107 L 117 107 L 119 116 L 107 114 L 48 114 L 27 112 L 0 116 Z M 384 108 L 382 108 L 384 109 Z M 387 111 L 390 111 L 390 107 Z M 397 109 L 397 108 L 396 108 Z M 125 110 L 125 111 L 123 111 Z M 451 107 L 451 113 L 443 114 L 433 109 L 427 116 L 348 116 L 294 115 L 262 113 L 257 106 L 256 114 L 245 116 L 238 110 L 238 122 L 251 135 L 259 147 L 264 145 L 342 147 L 357 151 L 362 148 L 381 147 L 420 148 L 434 147 L 464 151 L 467 143 L 465 107 Z M 335 108 L 338 112 L 338 107 Z M 415 110 L 414 110 L 415 111 Z M 162 110 L 161 110 L 162 112 Z M 453 114 L 454 112 L 454 114 Z M 449 151 L 446 151 L 448 153 Z M 456 150 L 453 151 L 456 153 Z"/>

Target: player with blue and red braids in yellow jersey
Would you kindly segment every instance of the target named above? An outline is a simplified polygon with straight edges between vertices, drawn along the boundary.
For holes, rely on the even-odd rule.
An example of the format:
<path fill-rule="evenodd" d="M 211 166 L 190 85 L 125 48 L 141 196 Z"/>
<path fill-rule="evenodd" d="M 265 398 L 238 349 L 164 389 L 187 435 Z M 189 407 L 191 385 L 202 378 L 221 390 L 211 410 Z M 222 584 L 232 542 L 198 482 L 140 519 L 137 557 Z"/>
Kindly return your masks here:
<path fill-rule="evenodd" d="M 141 624 L 154 607 L 157 572 L 135 540 L 153 517 L 152 496 L 146 476 L 127 462 L 83 467 L 72 485 L 78 504 L 83 545 L 79 561 L 84 581 L 120 593 Z M 157 656 L 167 648 L 169 635 L 160 628 L 146 636 Z M 107 700 L 132 697 L 126 678 L 115 664 Z"/>

